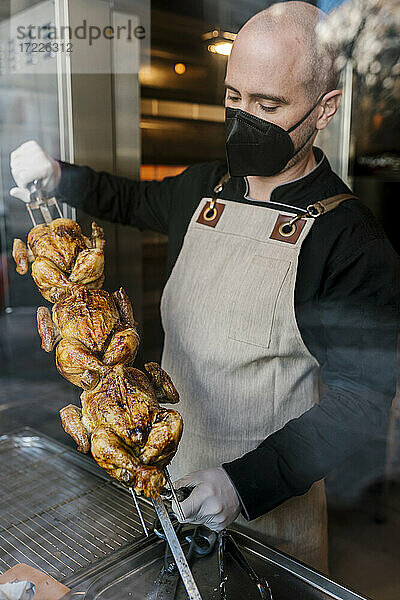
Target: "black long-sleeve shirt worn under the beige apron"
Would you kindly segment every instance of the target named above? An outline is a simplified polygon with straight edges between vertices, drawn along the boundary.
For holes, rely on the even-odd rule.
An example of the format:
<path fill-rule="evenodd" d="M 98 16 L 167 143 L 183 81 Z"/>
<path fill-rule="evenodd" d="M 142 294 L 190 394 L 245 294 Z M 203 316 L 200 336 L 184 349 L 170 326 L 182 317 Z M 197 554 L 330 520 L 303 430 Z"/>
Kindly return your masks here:
<path fill-rule="evenodd" d="M 321 150 L 316 168 L 276 187 L 267 202 L 233 177 L 221 199 L 304 211 L 350 190 Z M 137 182 L 62 163 L 58 194 L 90 215 L 168 235 L 169 274 L 201 198 L 226 172 L 223 161 L 197 164 L 161 182 Z M 319 217 L 304 240 L 295 311 L 303 340 L 321 365 L 320 403 L 224 464 L 249 519 L 305 493 L 314 481 L 384 431 L 396 386 L 399 260 L 371 212 L 347 200 Z M 190 277 L 190 273 L 188 274 Z"/>

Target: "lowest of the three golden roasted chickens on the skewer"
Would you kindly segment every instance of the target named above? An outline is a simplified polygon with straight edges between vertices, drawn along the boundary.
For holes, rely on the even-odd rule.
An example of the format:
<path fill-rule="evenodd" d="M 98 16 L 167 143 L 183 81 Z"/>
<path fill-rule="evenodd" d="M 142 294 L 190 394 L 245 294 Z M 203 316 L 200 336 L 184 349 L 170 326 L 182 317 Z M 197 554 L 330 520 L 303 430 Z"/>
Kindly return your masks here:
<path fill-rule="evenodd" d="M 137 492 L 157 496 L 165 485 L 160 469 L 175 455 L 182 435 L 180 414 L 160 407 L 156 390 L 142 371 L 124 364 L 104 365 L 78 340 L 63 338 L 56 357 L 64 377 L 84 388 L 81 419 L 73 412 L 63 414 L 64 429 L 84 452 L 83 427 L 101 467 Z M 165 371 L 157 368 L 173 386 Z M 172 389 L 171 395 L 178 396 Z"/>

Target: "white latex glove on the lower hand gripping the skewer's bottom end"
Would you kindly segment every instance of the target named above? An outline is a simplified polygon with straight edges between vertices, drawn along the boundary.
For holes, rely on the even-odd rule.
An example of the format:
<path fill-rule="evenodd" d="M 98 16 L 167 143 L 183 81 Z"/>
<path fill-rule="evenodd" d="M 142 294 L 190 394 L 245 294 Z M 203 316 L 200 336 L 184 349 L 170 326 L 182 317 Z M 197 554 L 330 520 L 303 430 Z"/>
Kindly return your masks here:
<path fill-rule="evenodd" d="M 174 483 L 180 487 L 194 488 L 186 500 L 180 503 L 185 523 L 206 525 L 213 531 L 222 531 L 240 513 L 240 502 L 233 483 L 222 467 L 195 471 Z M 176 515 L 177 506 L 172 503 Z"/>

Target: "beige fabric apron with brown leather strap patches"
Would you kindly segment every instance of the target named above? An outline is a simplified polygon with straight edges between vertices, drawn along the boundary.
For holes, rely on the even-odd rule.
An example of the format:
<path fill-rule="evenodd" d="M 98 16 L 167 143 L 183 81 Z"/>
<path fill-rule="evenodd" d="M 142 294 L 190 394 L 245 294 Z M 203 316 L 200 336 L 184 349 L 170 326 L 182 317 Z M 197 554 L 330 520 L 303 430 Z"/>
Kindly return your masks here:
<path fill-rule="evenodd" d="M 174 479 L 242 456 L 318 401 L 318 363 L 294 307 L 299 253 L 314 220 L 303 220 L 289 243 L 270 236 L 278 216 L 292 213 L 221 199 L 218 222 L 199 223 L 209 200 L 192 217 L 161 300 L 162 364 L 184 419 Z M 327 569 L 322 481 L 252 522 L 238 521 Z"/>

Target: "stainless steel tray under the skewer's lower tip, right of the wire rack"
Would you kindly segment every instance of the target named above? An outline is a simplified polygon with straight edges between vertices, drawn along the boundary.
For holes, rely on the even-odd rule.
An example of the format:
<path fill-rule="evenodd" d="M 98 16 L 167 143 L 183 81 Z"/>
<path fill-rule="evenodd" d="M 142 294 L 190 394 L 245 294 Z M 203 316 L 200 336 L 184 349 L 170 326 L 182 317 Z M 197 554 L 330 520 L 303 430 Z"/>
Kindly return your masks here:
<path fill-rule="evenodd" d="M 241 551 L 255 571 L 268 579 L 274 600 L 366 600 L 362 596 L 333 582 L 291 559 L 261 541 L 255 540 L 239 528 L 229 530 Z M 186 528 L 181 537 L 188 533 Z M 106 568 L 92 570 L 86 576 L 72 582 L 72 589 L 84 600 L 147 600 L 153 583 L 161 569 L 164 543 L 155 539 L 146 547 L 124 560 L 113 561 Z M 255 588 L 240 571 L 236 563 L 227 560 L 228 598 L 230 600 L 259 600 Z M 217 553 L 197 559 L 192 571 L 203 600 L 219 600 Z M 78 597 L 73 595 L 73 598 Z M 182 584 L 179 584 L 176 600 L 187 600 Z"/>

